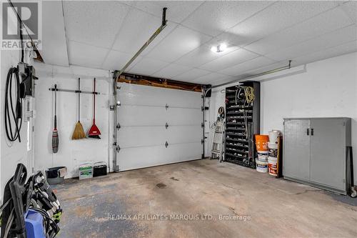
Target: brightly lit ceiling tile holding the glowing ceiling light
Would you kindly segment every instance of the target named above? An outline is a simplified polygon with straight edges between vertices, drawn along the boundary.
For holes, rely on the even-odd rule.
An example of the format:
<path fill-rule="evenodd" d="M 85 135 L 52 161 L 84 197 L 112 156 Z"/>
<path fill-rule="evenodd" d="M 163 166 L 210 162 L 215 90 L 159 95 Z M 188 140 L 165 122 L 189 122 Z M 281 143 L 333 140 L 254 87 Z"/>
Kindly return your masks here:
<path fill-rule="evenodd" d="M 214 45 L 216 46 L 218 44 L 214 44 Z M 203 44 L 199 46 L 197 49 L 182 56 L 180 59 L 175 61 L 175 63 L 196 67 L 238 49 L 237 46 L 228 46 L 228 48 L 225 51 L 216 53 L 211 51 L 211 46 L 213 46 L 213 44 Z"/>

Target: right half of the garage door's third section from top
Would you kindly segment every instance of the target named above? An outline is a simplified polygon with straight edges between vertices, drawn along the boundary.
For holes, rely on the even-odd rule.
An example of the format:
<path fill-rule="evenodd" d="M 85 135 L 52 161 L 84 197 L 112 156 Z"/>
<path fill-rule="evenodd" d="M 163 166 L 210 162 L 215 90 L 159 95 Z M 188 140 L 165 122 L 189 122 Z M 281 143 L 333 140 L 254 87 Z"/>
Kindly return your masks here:
<path fill-rule="evenodd" d="M 170 143 L 201 142 L 202 129 L 198 126 L 168 127 L 166 139 Z"/>

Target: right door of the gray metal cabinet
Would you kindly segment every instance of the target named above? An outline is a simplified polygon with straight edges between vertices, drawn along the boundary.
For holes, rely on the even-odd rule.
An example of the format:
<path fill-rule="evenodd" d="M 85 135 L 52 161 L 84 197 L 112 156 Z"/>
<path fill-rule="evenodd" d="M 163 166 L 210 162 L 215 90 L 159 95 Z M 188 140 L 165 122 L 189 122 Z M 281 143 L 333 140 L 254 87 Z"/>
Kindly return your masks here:
<path fill-rule="evenodd" d="M 346 189 L 343 119 L 311 119 L 311 182 Z"/>

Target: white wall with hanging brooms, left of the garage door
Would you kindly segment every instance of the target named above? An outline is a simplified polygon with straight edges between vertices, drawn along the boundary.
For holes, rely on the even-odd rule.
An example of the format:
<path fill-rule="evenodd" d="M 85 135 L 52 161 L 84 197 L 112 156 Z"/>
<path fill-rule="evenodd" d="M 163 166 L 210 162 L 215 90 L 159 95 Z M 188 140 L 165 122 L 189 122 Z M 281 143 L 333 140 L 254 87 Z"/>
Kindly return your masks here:
<path fill-rule="evenodd" d="M 35 126 L 35 169 L 66 166 L 67 177 L 78 177 L 79 164 L 85 162 L 109 162 L 109 71 L 77 66 L 61 67 L 36 64 L 39 76 L 36 85 Z M 77 89 L 81 78 L 81 90 L 92 91 L 96 77 L 96 125 L 101 130 L 101 139 L 72 140 L 71 136 L 78 120 L 77 94 L 57 92 L 57 127 L 59 131 L 59 152 L 52 153 L 51 135 L 54 127 L 54 93 L 50 87 L 57 84 L 60 89 Z M 111 80 L 111 79 L 110 79 Z M 81 124 L 88 132 L 92 124 L 92 94 L 81 94 Z M 111 136 L 110 136 L 111 137 Z M 110 152 L 109 152 L 110 149 Z"/>

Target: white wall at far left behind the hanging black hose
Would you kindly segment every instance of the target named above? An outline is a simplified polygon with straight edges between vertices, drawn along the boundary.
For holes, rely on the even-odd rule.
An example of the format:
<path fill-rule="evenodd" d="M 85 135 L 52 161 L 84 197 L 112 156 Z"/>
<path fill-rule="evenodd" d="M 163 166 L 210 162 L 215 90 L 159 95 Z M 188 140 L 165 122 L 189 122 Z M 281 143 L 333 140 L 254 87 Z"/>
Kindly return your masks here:
<path fill-rule="evenodd" d="M 6 86 L 6 76 L 11 67 L 19 63 L 18 50 L 1 50 L 1 80 L 0 80 L 0 201 L 3 197 L 4 187 L 9 179 L 14 175 L 16 165 L 24 164 L 30 170 L 27 159 L 27 122 L 22 124 L 21 143 L 9 142 L 6 138 L 4 126 L 4 96 Z M 31 64 L 29 56 L 25 54 L 24 61 Z"/>

